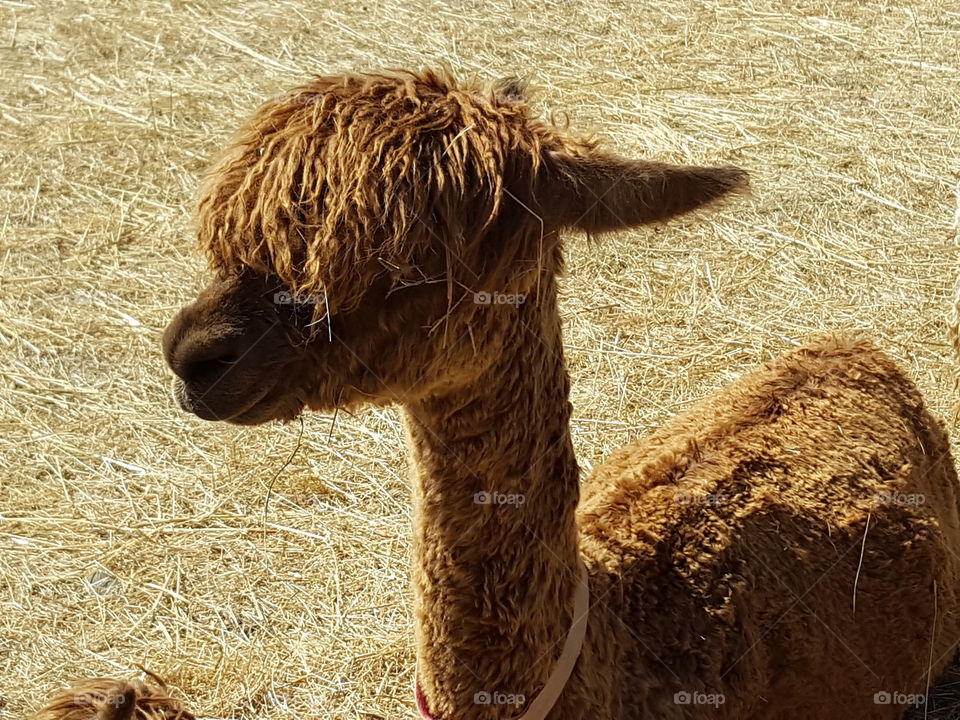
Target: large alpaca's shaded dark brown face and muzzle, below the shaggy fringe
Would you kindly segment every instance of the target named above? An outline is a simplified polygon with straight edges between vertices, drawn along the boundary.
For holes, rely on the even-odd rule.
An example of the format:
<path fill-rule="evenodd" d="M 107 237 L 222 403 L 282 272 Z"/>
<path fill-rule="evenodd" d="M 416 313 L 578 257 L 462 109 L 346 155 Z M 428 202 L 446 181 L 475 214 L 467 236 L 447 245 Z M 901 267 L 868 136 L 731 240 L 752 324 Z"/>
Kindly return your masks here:
<path fill-rule="evenodd" d="M 442 284 L 389 277 L 356 308 L 315 321 L 318 302 L 249 269 L 219 273 L 164 333 L 180 406 L 253 425 L 304 407 L 410 402 L 471 382 L 503 344 L 504 314 L 516 310 L 470 296 L 448 311 Z"/>

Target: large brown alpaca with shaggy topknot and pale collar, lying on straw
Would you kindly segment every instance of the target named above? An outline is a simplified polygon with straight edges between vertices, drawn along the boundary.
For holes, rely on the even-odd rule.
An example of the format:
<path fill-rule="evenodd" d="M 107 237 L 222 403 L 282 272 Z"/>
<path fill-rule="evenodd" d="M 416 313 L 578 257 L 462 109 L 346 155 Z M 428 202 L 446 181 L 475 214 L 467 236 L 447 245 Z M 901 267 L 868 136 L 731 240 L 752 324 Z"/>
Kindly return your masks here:
<path fill-rule="evenodd" d="M 561 232 L 747 179 L 617 157 L 523 97 L 426 72 L 261 107 L 201 192 L 215 277 L 164 335 L 180 405 L 246 425 L 401 406 L 422 718 L 901 717 L 960 630 L 943 427 L 873 345 L 825 338 L 581 488 Z"/>

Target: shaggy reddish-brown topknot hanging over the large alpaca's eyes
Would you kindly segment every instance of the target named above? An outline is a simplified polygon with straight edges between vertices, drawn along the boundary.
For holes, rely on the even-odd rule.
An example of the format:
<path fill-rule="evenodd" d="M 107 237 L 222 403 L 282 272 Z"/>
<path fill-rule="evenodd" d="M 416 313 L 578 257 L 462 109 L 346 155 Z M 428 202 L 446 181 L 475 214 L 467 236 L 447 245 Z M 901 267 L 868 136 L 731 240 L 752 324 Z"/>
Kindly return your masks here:
<path fill-rule="evenodd" d="M 317 77 L 262 105 L 215 165 L 200 247 L 215 269 L 269 273 L 330 312 L 387 274 L 469 286 L 491 265 L 516 267 L 530 260 L 520 236 L 543 232 L 528 207 L 526 230 L 516 214 L 533 203 L 543 151 L 593 147 L 532 119 L 525 98 L 513 78 L 479 89 L 435 72 Z M 512 238 L 487 241 L 505 196 Z"/>

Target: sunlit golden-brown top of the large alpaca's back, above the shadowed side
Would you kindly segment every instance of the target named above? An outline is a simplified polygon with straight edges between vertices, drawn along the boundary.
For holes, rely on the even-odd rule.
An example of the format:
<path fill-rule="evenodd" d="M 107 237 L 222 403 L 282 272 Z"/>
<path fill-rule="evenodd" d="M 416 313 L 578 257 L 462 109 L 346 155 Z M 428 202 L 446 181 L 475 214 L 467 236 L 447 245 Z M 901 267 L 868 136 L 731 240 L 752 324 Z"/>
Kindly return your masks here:
<path fill-rule="evenodd" d="M 946 483 L 952 501 L 947 448 L 893 360 L 869 341 L 825 337 L 614 453 L 584 485 L 580 526 L 632 550 L 716 523 L 735 532 L 772 506 L 839 526 L 878 494 L 940 494 Z M 932 458 L 946 458 L 934 473 Z"/>

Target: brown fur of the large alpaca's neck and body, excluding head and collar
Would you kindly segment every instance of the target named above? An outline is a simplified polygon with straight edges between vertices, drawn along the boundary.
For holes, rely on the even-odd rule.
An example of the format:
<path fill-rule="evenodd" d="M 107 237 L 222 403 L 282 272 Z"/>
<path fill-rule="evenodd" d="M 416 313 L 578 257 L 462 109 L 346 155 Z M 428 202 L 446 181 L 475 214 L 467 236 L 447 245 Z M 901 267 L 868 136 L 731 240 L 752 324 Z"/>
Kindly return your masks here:
<path fill-rule="evenodd" d="M 886 356 L 825 339 L 771 363 L 614 455 L 577 507 L 559 323 L 531 326 L 482 382 L 408 409 L 438 717 L 510 717 L 472 697 L 546 680 L 578 552 L 594 607 L 551 718 L 896 718 L 877 693 L 935 682 L 960 631 L 957 478 Z M 697 692 L 724 703 L 676 702 Z"/>

